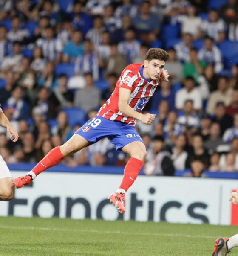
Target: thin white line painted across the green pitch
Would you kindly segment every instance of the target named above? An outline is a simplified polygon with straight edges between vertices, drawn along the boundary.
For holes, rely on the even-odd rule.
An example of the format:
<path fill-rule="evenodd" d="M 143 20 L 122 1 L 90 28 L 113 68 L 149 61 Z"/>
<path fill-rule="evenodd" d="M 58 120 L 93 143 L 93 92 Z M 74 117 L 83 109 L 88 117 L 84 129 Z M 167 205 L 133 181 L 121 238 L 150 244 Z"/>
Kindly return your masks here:
<path fill-rule="evenodd" d="M 59 228 L 48 228 L 48 227 L 10 227 L 0 226 L 5 229 L 23 229 L 23 230 L 48 230 L 48 231 L 64 231 L 64 232 L 83 232 L 83 233 L 108 233 L 108 234 L 122 234 L 122 235 L 139 235 L 139 236 L 180 236 L 180 237 L 191 237 L 191 238 L 216 238 L 215 236 L 195 236 L 195 235 L 183 235 L 183 234 L 164 234 L 164 233 L 130 233 L 121 231 L 99 231 L 99 230 L 70 230 L 70 229 L 59 229 Z"/>

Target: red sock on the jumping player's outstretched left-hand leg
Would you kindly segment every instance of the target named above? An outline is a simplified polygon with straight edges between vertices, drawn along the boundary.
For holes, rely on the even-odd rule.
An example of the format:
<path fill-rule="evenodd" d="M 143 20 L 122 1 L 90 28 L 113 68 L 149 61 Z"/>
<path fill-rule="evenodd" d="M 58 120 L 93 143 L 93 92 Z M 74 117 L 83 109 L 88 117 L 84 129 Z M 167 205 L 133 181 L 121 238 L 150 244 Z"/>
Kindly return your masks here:
<path fill-rule="evenodd" d="M 61 153 L 59 146 L 51 149 L 51 151 L 40 160 L 39 163 L 31 170 L 37 176 L 46 169 L 55 166 L 61 162 L 65 156 Z"/>

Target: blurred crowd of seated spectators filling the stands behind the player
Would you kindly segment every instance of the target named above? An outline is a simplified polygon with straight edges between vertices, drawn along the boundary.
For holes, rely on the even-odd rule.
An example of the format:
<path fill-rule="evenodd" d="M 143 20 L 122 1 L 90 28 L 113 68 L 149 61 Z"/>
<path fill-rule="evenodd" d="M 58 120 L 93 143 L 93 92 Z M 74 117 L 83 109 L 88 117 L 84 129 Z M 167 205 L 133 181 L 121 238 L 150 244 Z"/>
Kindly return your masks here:
<path fill-rule="evenodd" d="M 235 172 L 238 166 L 237 0 L 0 0 L 0 102 L 17 144 L 0 128 L 6 163 L 39 161 L 93 117 L 122 70 L 166 49 L 162 81 L 137 122 L 144 173 Z M 125 165 L 108 139 L 63 161 Z"/>

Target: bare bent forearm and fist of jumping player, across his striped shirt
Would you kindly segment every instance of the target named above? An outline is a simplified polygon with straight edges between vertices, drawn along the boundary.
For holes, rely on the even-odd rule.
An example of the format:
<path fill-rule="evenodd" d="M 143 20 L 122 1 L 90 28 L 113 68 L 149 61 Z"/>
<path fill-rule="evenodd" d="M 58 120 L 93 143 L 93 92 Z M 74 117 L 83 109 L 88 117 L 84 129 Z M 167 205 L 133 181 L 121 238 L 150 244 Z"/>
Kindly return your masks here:
<path fill-rule="evenodd" d="M 133 110 L 133 108 L 131 108 L 128 104 L 130 100 L 130 94 L 131 94 L 130 89 L 126 89 L 123 87 L 119 88 L 119 99 L 118 99 L 119 111 L 121 111 L 125 116 L 129 116 L 129 117 L 140 120 L 144 124 L 147 124 L 147 125 L 152 124 L 156 118 L 156 115 L 150 114 L 150 113 L 142 114 Z"/>

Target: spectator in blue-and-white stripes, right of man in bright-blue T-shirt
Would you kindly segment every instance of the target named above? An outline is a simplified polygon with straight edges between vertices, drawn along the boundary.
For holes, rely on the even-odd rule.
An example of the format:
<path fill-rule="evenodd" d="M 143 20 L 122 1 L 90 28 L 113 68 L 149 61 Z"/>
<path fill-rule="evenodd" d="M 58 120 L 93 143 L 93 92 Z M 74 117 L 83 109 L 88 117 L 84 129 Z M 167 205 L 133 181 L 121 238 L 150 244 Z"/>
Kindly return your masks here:
<path fill-rule="evenodd" d="M 75 61 L 74 72 L 81 76 L 85 73 L 92 73 L 96 81 L 99 79 L 99 63 L 89 40 L 84 41 L 83 52 L 83 55 L 79 55 Z"/>

